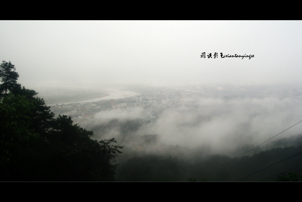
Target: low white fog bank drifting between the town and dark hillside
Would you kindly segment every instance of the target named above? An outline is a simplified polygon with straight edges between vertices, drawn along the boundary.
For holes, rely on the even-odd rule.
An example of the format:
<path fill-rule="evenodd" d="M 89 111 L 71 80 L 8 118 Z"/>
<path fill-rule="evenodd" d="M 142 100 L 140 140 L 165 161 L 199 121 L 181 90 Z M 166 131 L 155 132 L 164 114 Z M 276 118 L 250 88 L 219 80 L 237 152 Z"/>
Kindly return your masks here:
<path fill-rule="evenodd" d="M 103 111 L 78 123 L 87 130 L 94 130 L 95 139 L 116 138 L 119 145 L 141 147 L 142 143 L 135 143 L 139 141 L 137 137 L 157 134 L 153 148 L 158 149 L 155 144 L 207 146 L 213 153 L 223 153 L 241 145 L 256 146 L 266 141 L 299 122 L 302 113 L 302 96 L 187 98 L 185 102 L 185 106 L 164 110 L 156 119 L 148 118 L 143 108 L 136 107 Z M 298 124 L 273 140 L 299 134 L 301 128 Z"/>

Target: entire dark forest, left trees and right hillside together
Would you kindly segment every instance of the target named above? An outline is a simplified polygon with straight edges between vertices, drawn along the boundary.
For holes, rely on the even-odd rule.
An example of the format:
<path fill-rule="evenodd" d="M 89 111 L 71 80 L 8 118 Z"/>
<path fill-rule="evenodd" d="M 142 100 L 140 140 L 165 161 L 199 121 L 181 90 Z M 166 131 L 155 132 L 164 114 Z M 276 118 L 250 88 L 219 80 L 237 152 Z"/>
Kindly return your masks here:
<path fill-rule="evenodd" d="M 87 123 L 84 129 L 65 115 L 54 118 L 36 91 L 17 83 L 15 70 L 11 62 L 0 66 L 0 181 L 302 180 L 302 135 L 238 157 L 255 146 L 223 155 L 206 146 L 159 144 L 157 134 L 135 133 L 152 124 L 140 119 Z M 102 137 L 113 128 L 119 135 Z"/>

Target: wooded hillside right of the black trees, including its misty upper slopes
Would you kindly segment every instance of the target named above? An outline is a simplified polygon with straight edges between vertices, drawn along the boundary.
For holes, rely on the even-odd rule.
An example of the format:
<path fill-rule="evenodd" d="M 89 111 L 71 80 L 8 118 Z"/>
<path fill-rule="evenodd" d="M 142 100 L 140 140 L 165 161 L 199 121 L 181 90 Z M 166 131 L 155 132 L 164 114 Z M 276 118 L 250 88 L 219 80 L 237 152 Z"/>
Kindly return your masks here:
<path fill-rule="evenodd" d="M 118 181 L 299 181 L 302 170 L 302 135 L 271 141 L 265 146 L 244 145 L 226 154 L 210 148 L 159 143 L 156 134 L 135 132 L 149 121 L 117 120 L 89 126 L 95 138 L 111 129 L 119 131 L 116 140 L 123 146 L 117 159 Z M 100 137 L 99 137 L 100 138 Z M 251 150 L 252 148 L 255 148 Z M 245 156 L 241 154 L 248 152 Z M 240 157 L 241 156 L 241 157 Z M 290 172 L 292 172 L 290 174 Z M 294 173 L 293 173 L 294 172 Z M 296 172 L 296 173 L 295 173 Z"/>

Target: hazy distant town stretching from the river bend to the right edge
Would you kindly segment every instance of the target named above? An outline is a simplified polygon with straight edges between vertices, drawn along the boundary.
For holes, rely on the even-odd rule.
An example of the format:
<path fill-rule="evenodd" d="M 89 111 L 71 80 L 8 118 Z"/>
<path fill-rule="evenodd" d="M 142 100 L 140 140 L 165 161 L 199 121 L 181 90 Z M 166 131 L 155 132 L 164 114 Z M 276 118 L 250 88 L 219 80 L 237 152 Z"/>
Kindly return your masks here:
<path fill-rule="evenodd" d="M 58 115 L 67 115 L 73 120 L 93 117 L 101 111 L 127 110 L 140 107 L 143 109 L 145 119 L 156 119 L 165 110 L 185 106 L 187 110 L 197 110 L 198 102 L 202 98 L 221 98 L 224 100 L 234 98 L 277 96 L 279 98 L 302 95 L 302 89 L 280 86 L 258 87 L 216 87 L 199 88 L 147 88 L 136 90 L 139 95 L 126 96 L 119 99 L 105 99 L 96 102 L 79 102 L 61 105 L 52 105 L 51 111 Z"/>

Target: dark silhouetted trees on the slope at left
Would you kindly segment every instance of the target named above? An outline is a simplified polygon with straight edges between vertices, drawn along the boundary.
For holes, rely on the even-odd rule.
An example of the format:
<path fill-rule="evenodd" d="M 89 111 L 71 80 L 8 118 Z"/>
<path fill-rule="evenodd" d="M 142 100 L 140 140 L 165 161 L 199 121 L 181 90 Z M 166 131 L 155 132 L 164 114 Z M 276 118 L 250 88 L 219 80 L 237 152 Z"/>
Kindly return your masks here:
<path fill-rule="evenodd" d="M 1 64 L 0 181 L 113 181 L 115 139 L 93 140 L 93 132 L 70 117 L 50 112 L 34 90 L 17 83 L 11 62 Z"/>

